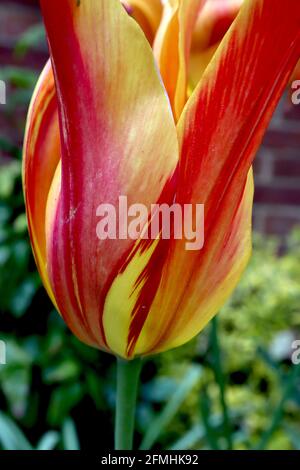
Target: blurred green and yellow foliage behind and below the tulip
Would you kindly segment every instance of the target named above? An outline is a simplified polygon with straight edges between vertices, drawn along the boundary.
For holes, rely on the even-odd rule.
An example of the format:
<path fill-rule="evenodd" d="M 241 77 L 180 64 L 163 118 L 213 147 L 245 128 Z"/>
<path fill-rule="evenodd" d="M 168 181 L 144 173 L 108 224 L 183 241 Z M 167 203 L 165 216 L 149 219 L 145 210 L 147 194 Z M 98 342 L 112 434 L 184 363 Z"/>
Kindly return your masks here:
<path fill-rule="evenodd" d="M 18 54 L 41 40 L 36 27 Z M 23 42 L 22 42 L 23 41 Z M 36 82 L 5 67 L 7 119 L 26 108 Z M 24 130 L 24 116 L 20 128 Z M 112 448 L 115 360 L 67 330 L 31 255 L 21 150 L 0 131 L 0 449 Z M 41 183 L 42 184 L 42 183 Z M 192 342 L 147 359 L 136 445 L 164 449 L 300 449 L 300 232 L 278 257 L 258 236 L 242 282 L 218 319 Z"/>

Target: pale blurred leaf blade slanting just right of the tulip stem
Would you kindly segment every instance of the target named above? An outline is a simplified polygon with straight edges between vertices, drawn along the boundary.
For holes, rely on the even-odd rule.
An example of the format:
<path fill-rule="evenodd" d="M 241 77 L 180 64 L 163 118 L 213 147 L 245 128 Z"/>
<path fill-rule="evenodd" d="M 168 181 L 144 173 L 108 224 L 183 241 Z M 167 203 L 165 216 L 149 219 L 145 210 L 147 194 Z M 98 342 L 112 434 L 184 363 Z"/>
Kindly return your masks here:
<path fill-rule="evenodd" d="M 148 450 L 152 448 L 162 431 L 172 421 L 186 397 L 199 382 L 201 373 L 202 369 L 199 366 L 190 366 L 188 372 L 183 377 L 175 393 L 171 396 L 169 402 L 163 408 L 162 412 L 150 424 L 141 443 L 141 450 Z"/>

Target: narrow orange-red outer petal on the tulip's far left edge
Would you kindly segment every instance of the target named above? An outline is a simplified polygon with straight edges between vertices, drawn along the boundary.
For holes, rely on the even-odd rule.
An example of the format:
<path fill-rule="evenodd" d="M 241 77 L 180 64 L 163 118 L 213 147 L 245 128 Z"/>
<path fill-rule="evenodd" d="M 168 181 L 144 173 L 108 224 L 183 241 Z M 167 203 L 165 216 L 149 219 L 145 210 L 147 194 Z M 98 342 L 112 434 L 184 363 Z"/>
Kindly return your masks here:
<path fill-rule="evenodd" d="M 45 218 L 49 188 L 60 159 L 56 94 L 50 61 L 33 94 L 23 151 L 23 186 L 36 263 L 55 303 L 46 270 Z"/>

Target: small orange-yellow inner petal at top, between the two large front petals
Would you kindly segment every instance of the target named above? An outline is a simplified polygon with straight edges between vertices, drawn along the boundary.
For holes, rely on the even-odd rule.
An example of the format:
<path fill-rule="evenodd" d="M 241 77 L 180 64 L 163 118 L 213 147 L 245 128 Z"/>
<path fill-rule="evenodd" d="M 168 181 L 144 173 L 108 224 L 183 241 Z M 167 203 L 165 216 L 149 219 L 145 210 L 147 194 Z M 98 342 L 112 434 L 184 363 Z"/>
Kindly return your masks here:
<path fill-rule="evenodd" d="M 205 0 L 168 0 L 154 43 L 154 54 L 178 120 L 187 98 L 192 34 Z"/>

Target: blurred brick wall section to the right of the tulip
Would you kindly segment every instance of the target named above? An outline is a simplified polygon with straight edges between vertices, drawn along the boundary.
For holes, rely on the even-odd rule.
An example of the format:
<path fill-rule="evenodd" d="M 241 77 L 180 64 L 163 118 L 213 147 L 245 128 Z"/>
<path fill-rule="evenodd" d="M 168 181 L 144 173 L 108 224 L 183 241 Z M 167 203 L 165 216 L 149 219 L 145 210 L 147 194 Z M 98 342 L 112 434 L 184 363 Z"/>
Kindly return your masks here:
<path fill-rule="evenodd" d="M 255 227 L 285 235 L 300 225 L 300 105 L 285 95 L 255 162 Z"/>

